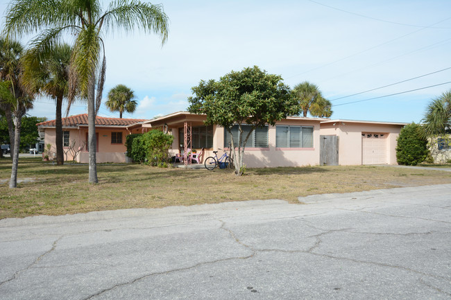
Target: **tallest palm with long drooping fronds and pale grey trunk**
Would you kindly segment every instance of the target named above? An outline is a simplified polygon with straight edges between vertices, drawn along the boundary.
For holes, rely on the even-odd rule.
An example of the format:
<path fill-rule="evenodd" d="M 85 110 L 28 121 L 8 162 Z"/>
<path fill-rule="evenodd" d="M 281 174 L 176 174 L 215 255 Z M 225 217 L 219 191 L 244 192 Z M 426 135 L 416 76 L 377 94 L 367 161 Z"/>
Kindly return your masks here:
<path fill-rule="evenodd" d="M 106 68 L 102 37 L 116 28 L 141 29 L 159 35 L 164 43 L 168 22 L 162 6 L 137 0 L 113 1 L 106 10 L 100 0 L 14 0 L 8 6 L 3 29 L 6 37 L 40 32 L 32 46 L 46 52 L 65 33 L 75 36 L 68 98 L 71 101 L 79 92 L 87 99 L 90 183 L 98 182 L 95 121 Z"/>

